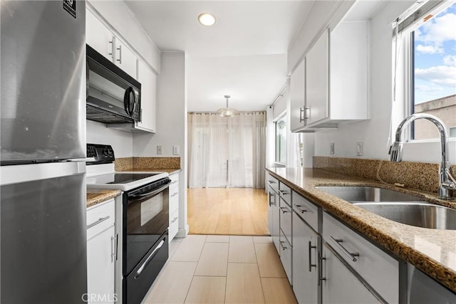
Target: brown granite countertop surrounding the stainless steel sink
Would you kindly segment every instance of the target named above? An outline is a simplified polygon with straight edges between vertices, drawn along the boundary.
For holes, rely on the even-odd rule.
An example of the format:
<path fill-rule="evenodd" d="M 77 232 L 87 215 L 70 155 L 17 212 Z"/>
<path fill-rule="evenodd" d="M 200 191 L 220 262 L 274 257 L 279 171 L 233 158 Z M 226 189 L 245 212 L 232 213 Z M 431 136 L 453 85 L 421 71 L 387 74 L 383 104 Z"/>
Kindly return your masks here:
<path fill-rule="evenodd" d="M 321 169 L 266 168 L 272 176 L 320 205 L 353 229 L 408 261 L 456 292 L 456 231 L 425 229 L 390 221 L 317 189 L 317 186 L 372 186 L 415 194 L 426 201 L 456 209 L 456 201 Z"/>

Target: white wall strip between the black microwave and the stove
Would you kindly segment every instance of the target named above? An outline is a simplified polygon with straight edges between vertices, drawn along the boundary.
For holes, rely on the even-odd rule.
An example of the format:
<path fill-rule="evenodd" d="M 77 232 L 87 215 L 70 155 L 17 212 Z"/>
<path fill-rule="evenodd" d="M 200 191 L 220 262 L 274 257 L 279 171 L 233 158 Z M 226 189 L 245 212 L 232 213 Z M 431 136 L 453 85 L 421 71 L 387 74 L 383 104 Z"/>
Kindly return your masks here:
<path fill-rule="evenodd" d="M 133 156 L 133 135 L 131 132 L 108 129 L 104 123 L 86 120 L 87 142 L 89 144 L 111 145 L 115 157 Z"/>

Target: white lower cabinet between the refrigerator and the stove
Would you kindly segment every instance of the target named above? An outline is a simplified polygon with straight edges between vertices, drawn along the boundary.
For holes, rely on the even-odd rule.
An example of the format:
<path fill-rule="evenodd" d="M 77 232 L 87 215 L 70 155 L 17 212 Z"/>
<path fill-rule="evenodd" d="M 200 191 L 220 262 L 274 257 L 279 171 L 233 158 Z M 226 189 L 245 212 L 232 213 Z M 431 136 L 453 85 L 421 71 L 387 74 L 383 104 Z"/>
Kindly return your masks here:
<path fill-rule="evenodd" d="M 87 210 L 87 300 L 88 303 L 115 303 L 114 199 Z"/>

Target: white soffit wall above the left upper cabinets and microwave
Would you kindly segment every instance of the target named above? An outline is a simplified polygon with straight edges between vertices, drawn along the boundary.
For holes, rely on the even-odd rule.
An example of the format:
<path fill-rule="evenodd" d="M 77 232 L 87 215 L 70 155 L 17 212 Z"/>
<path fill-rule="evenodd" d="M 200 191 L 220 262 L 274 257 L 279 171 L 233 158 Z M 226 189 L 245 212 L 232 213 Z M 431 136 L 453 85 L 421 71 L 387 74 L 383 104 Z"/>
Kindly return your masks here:
<path fill-rule="evenodd" d="M 88 8 L 134 48 L 155 73 L 160 73 L 160 50 L 135 19 L 124 1 L 88 0 Z"/>

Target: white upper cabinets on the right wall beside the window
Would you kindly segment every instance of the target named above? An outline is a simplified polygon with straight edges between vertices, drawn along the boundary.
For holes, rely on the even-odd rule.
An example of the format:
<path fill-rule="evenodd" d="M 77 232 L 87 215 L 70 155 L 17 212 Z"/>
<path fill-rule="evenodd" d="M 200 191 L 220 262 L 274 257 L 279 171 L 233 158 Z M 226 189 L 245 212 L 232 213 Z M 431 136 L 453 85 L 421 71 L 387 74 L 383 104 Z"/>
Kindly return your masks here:
<path fill-rule="evenodd" d="M 368 21 L 344 21 L 331 34 L 324 31 L 306 54 L 304 106 L 294 107 L 293 96 L 302 91 L 291 95 L 291 130 L 314 132 L 368 120 L 368 54 Z M 293 124 L 299 115 L 304 122 Z"/>

